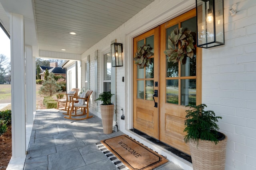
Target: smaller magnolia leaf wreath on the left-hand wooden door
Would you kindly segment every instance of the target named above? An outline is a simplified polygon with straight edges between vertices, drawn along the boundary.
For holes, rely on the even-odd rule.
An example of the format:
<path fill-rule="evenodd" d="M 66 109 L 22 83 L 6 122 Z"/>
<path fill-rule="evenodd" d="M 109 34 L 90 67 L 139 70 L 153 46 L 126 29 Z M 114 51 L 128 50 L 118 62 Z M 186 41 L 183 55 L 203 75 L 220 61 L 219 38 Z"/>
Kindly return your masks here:
<path fill-rule="evenodd" d="M 135 57 L 133 58 L 135 64 L 139 66 L 139 68 L 144 68 L 145 66 L 149 66 L 149 57 L 153 55 L 152 47 L 150 45 L 143 45 L 142 47 L 138 47 L 137 52 L 135 53 Z"/>

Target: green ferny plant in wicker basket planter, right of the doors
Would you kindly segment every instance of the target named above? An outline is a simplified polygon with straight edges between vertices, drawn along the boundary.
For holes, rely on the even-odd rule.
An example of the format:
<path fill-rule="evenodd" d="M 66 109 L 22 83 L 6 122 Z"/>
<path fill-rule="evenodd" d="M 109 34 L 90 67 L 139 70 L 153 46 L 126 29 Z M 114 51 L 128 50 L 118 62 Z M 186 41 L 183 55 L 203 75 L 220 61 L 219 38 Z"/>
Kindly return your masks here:
<path fill-rule="evenodd" d="M 193 169 L 224 170 L 227 137 L 218 132 L 216 124 L 220 116 L 214 111 L 205 111 L 205 104 L 189 105 L 186 110 L 184 141 L 190 145 Z M 191 109 L 192 108 L 192 109 Z"/>

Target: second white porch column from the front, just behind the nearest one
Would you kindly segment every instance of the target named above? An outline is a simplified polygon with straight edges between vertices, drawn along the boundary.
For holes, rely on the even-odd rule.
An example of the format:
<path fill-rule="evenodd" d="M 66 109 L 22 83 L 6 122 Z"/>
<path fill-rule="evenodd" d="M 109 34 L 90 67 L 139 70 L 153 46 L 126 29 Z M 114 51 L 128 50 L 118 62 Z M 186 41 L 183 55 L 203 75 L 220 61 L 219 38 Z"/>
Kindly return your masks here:
<path fill-rule="evenodd" d="M 34 89 L 33 84 L 36 82 L 33 82 L 33 72 L 36 71 L 36 69 L 33 68 L 32 64 L 32 46 L 26 45 L 25 46 L 25 57 L 26 57 L 26 64 L 25 64 L 25 70 L 26 70 L 26 123 L 33 123 L 33 109 L 34 109 Z"/>

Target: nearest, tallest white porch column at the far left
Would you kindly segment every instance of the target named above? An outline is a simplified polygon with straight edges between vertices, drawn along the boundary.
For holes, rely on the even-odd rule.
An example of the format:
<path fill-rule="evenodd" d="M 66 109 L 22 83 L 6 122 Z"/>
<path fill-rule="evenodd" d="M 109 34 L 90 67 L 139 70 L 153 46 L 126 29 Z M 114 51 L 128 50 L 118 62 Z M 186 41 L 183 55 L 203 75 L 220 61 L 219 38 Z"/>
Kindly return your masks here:
<path fill-rule="evenodd" d="M 12 158 L 26 155 L 24 18 L 10 13 Z"/>

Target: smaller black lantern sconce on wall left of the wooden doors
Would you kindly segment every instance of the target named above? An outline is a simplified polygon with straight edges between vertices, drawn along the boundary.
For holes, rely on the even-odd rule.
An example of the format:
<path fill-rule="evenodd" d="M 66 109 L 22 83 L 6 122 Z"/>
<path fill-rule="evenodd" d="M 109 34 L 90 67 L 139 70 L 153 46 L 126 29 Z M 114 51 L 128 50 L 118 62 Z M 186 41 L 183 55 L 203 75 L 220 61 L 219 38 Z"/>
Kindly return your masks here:
<path fill-rule="evenodd" d="M 123 53 L 122 43 L 111 44 L 112 67 L 123 66 L 122 53 Z"/>

